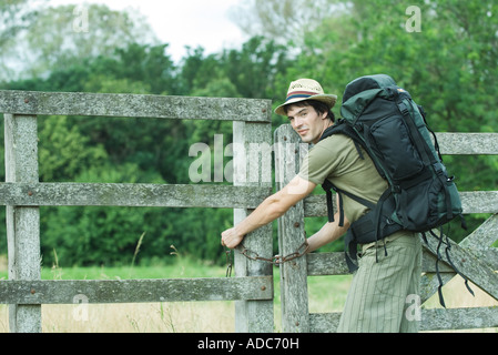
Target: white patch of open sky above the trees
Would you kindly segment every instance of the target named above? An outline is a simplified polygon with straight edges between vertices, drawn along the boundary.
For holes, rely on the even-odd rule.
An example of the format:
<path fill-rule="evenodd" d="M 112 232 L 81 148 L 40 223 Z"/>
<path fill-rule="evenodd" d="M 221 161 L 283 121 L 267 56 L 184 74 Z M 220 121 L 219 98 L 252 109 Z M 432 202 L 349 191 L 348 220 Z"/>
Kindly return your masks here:
<path fill-rule="evenodd" d="M 49 0 L 50 6 L 102 3 L 112 10 L 140 11 L 167 53 L 177 62 L 186 54 L 185 45 L 204 48 L 205 54 L 224 48 L 238 48 L 247 38 L 233 20 L 230 10 L 243 0 Z"/>

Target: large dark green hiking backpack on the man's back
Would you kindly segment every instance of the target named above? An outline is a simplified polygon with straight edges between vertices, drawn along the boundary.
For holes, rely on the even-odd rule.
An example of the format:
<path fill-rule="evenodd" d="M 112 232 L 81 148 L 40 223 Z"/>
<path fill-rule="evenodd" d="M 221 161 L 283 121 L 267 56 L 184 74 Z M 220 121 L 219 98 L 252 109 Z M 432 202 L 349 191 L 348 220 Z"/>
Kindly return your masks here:
<path fill-rule="evenodd" d="M 464 229 L 466 225 L 454 176 L 448 176 L 443 164 L 436 135 L 427 125 L 424 109 L 389 75 L 377 74 L 358 78 L 346 85 L 341 115 L 342 119 L 328 128 L 321 140 L 333 134 L 349 136 L 359 156 L 364 159 L 363 148 L 388 183 L 376 204 L 334 186 L 328 180 L 323 184 L 329 222 L 334 221 L 332 190 L 339 199 L 339 225 L 344 223 L 343 194 L 369 209 L 350 224 L 345 236 L 349 270 L 357 268 L 357 244 L 377 242 L 400 230 L 419 232 L 426 242 L 426 234 L 430 234 L 439 239 L 436 271 L 439 301 L 444 306 L 437 263 L 440 246 L 446 244 L 448 252 L 450 244 L 447 236 L 444 241 L 443 225 L 457 216 Z M 439 235 L 433 232 L 434 229 L 439 229 Z M 386 248 L 385 252 L 387 255 Z M 460 274 L 450 260 L 449 263 Z M 469 288 L 467 278 L 460 276 Z"/>

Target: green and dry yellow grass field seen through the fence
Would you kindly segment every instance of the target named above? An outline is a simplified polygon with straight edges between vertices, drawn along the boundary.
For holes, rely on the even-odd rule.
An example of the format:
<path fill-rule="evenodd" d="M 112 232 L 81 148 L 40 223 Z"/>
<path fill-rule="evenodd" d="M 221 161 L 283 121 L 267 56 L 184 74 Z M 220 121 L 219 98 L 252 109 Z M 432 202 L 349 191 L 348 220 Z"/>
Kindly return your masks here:
<path fill-rule="evenodd" d="M 42 267 L 42 280 L 124 280 L 224 277 L 225 267 L 175 255 L 172 265 L 122 267 Z M 2 263 L 0 263 L 1 265 Z M 4 263 L 3 263 L 4 264 Z M 7 271 L 0 271 L 7 278 Z M 282 332 L 278 268 L 274 268 L 274 329 Z M 341 312 L 350 276 L 308 277 L 311 313 Z M 444 287 L 448 307 L 498 306 L 476 286 L 476 297 L 457 278 Z M 424 304 L 438 307 L 437 295 Z M 175 302 L 134 304 L 42 305 L 42 329 L 47 333 L 231 333 L 234 332 L 234 302 Z M 0 332 L 8 332 L 8 306 L 0 305 Z M 486 329 L 477 329 L 482 332 Z M 494 329 L 487 329 L 496 332 Z"/>

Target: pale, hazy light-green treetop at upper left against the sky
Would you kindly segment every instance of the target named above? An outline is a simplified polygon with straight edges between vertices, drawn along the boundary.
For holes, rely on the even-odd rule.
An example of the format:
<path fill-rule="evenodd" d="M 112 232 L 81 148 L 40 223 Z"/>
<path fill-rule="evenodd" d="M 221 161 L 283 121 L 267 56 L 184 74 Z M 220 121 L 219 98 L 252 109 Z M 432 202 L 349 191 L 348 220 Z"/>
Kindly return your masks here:
<path fill-rule="evenodd" d="M 17 7 L 21 2 L 26 6 L 33 0 L 14 1 Z M 88 57 L 111 55 L 130 43 L 157 43 L 140 13 L 113 11 L 106 6 L 41 6 L 31 13 L 33 18 L 35 21 L 17 21 L 21 24 L 10 27 L 10 50 L 22 63 L 16 69 L 20 78 L 48 75 L 53 68 L 69 68 Z"/>

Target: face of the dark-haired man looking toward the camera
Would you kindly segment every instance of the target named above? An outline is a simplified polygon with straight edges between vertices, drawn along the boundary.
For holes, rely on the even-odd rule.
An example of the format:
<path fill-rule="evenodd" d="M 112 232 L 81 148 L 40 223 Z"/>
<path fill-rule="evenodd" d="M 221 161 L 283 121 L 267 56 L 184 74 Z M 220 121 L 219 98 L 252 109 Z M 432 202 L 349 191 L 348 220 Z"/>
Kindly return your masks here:
<path fill-rule="evenodd" d="M 318 114 L 311 105 L 291 104 L 287 108 L 287 118 L 304 143 L 317 143 L 327 125 L 327 112 Z"/>

